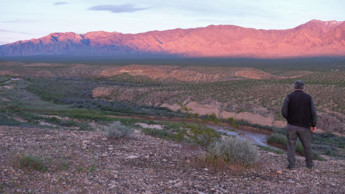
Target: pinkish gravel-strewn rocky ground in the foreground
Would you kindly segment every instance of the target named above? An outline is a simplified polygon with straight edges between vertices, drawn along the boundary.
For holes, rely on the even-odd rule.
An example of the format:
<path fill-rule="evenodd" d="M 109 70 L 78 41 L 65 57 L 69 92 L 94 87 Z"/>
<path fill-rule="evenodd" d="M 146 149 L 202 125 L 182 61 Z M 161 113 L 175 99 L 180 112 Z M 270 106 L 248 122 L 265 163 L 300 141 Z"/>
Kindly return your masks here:
<path fill-rule="evenodd" d="M 315 161 L 260 151 L 251 168 L 214 168 L 197 147 L 139 133 L 108 140 L 102 131 L 0 126 L 0 193 L 317 193 L 345 191 L 344 161 Z M 22 154 L 39 156 L 46 171 L 19 169 Z"/>

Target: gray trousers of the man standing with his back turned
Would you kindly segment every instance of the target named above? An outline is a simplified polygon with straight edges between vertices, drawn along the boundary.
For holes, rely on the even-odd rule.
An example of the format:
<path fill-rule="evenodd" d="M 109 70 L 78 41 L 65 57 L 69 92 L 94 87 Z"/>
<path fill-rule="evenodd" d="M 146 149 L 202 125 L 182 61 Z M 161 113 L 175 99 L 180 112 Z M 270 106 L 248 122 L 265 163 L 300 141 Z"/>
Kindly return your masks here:
<path fill-rule="evenodd" d="M 304 156 L 306 158 L 307 167 L 311 168 L 314 164 L 312 163 L 312 143 L 311 143 L 311 131 L 310 130 L 290 130 L 288 129 L 287 134 L 287 149 L 288 149 L 288 161 L 289 168 L 295 168 L 295 149 L 297 136 L 302 143 L 304 149 Z"/>

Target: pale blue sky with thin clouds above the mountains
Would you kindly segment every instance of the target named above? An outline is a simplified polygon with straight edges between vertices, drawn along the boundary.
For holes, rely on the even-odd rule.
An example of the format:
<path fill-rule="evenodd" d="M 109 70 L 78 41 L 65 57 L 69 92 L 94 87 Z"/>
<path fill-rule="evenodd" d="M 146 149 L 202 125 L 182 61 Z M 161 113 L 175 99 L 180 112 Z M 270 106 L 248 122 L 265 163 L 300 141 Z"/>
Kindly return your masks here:
<path fill-rule="evenodd" d="M 51 32 L 289 29 L 312 19 L 344 21 L 344 8 L 345 0 L 0 0 L 0 45 Z"/>

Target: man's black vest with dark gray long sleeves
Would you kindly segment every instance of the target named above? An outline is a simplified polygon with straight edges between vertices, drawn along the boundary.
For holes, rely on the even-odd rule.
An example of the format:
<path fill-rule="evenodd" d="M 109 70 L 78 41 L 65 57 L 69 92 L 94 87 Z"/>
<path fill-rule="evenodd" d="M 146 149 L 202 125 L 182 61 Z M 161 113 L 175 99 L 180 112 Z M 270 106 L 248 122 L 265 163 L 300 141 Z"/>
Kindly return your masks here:
<path fill-rule="evenodd" d="M 288 124 L 303 128 L 316 126 L 316 108 L 312 97 L 302 90 L 296 90 L 285 97 L 281 114 Z"/>

